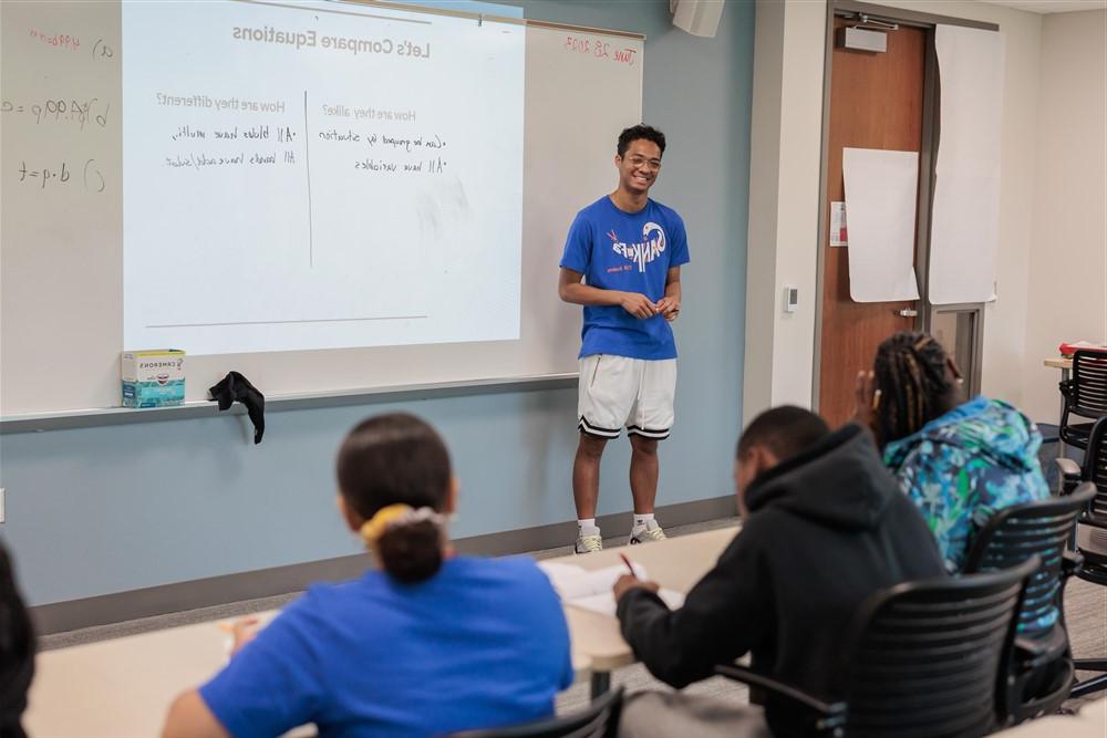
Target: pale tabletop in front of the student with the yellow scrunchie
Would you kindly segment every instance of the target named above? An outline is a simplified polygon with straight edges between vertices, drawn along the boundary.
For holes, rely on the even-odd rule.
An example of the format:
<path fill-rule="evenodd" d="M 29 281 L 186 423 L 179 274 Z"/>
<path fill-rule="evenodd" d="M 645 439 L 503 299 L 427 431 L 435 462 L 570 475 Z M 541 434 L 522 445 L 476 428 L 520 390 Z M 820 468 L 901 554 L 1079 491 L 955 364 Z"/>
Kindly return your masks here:
<path fill-rule="evenodd" d="M 227 637 L 206 622 L 43 652 L 23 727 L 32 738 L 154 738 L 173 699 L 227 662 Z M 590 673 L 587 656 L 575 653 L 572 666 L 577 679 Z M 288 734 L 313 735 L 311 727 Z"/>

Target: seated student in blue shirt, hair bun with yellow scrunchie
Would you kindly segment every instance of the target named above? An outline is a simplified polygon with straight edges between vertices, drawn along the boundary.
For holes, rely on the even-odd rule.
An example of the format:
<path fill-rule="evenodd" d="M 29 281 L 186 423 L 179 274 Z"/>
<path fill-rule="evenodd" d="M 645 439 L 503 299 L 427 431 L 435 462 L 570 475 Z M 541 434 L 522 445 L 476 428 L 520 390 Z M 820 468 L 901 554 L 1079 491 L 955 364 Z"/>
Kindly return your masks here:
<path fill-rule="evenodd" d="M 549 580 L 524 558 L 454 555 L 457 484 L 442 439 L 411 415 L 370 418 L 338 457 L 339 508 L 383 571 L 318 584 L 199 689 L 165 737 L 434 736 L 554 714 L 572 682 Z"/>

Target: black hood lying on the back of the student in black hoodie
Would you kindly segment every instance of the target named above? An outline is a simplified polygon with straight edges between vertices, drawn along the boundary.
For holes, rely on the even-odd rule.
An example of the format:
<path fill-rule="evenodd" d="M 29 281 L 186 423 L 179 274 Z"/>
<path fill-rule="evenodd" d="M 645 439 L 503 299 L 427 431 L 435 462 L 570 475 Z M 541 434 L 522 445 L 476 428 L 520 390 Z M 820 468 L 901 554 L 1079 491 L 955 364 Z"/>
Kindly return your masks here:
<path fill-rule="evenodd" d="M 752 513 L 774 507 L 836 528 L 870 530 L 900 493 L 868 430 L 849 424 L 762 474 L 745 495 Z"/>

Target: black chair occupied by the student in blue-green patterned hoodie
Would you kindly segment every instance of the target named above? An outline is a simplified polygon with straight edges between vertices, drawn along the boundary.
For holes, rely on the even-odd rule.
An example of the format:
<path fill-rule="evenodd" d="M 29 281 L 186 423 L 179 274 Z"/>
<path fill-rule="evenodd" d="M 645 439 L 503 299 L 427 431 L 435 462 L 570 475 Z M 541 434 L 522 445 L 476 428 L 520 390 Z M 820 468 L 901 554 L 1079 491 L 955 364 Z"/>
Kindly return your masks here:
<path fill-rule="evenodd" d="M 1068 699 L 1074 667 L 1064 622 L 1064 592 L 1082 558 L 1066 547 L 1076 519 L 1095 495 L 1088 485 L 1069 497 L 1004 508 L 976 534 L 965 558 L 965 573 L 1010 569 L 1033 555 L 1042 562 L 1026 585 L 1015 655 L 999 695 L 1011 723 L 1054 713 Z M 1056 622 L 1045 623 L 1054 612 Z"/>

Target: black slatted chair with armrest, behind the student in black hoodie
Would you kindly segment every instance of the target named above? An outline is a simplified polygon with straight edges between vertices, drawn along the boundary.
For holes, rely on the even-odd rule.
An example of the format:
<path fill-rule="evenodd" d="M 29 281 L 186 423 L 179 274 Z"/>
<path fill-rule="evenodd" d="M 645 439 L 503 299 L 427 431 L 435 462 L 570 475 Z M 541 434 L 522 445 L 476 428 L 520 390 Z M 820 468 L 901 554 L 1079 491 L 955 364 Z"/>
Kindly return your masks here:
<path fill-rule="evenodd" d="M 904 582 L 869 596 L 844 634 L 842 701 L 827 703 L 739 666 L 723 676 L 759 687 L 774 730 L 840 738 L 973 738 L 995 727 L 1033 557 L 999 572 Z M 787 723 L 782 730 L 778 716 Z"/>

